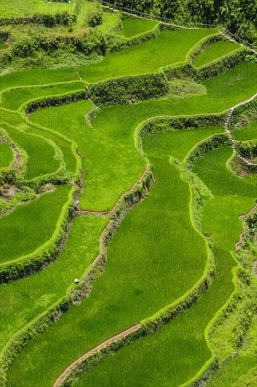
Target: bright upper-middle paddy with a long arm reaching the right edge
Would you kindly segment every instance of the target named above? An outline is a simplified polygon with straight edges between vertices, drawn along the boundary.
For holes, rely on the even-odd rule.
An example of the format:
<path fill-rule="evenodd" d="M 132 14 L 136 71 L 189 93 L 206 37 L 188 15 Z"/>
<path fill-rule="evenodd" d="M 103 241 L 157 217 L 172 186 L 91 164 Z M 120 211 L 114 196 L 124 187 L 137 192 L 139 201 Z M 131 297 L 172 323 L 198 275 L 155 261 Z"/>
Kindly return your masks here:
<path fill-rule="evenodd" d="M 144 171 L 145 162 L 133 144 L 134 130 L 140 122 L 155 115 L 215 113 L 230 108 L 256 92 L 256 84 L 252 82 L 256 73 L 257 65 L 245 63 L 204 82 L 206 96 L 103 108 L 94 129 L 84 121 L 84 113 L 90 108 L 88 101 L 38 110 L 31 118 L 32 122 L 60 131 L 77 142 L 84 155 L 82 163 L 86 172 L 86 189 L 80 205 L 106 210 L 113 207 L 123 191 Z M 65 121 L 61 120 L 62 116 Z"/>

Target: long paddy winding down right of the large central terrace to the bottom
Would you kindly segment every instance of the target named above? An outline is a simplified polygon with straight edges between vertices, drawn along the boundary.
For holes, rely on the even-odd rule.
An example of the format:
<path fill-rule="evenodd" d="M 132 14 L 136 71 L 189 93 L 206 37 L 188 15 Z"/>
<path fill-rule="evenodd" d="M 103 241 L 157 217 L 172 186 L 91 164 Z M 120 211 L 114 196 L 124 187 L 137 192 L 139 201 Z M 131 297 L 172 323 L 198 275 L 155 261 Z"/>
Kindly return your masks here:
<path fill-rule="evenodd" d="M 225 163 L 231 154 L 229 147 L 222 147 L 204 156 L 194 168 L 215 196 L 203 208 L 203 232 L 211 232 L 214 243 L 216 275 L 213 285 L 181 317 L 109 357 L 75 383 L 76 387 L 179 386 L 192 378 L 211 357 L 204 331 L 234 289 L 231 270 L 235 261 L 230 250 L 234 250 L 242 231 L 238 215 L 251 208 L 256 195 L 253 185 L 226 169 Z M 192 265 L 194 267 L 193 262 Z"/>

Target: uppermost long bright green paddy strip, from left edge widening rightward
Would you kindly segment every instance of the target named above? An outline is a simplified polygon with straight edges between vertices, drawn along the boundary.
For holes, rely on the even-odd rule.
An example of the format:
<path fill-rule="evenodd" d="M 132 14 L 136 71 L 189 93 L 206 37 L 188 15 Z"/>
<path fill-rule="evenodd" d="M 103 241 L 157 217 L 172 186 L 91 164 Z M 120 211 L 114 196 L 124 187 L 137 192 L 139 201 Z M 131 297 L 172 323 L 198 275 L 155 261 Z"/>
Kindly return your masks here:
<path fill-rule="evenodd" d="M 0 90 L 13 86 L 79 80 L 77 72 L 87 82 L 156 72 L 160 66 L 185 61 L 189 49 L 209 34 L 213 34 L 213 30 L 163 31 L 156 39 L 108 54 L 99 64 L 12 72 L 0 77 Z"/>

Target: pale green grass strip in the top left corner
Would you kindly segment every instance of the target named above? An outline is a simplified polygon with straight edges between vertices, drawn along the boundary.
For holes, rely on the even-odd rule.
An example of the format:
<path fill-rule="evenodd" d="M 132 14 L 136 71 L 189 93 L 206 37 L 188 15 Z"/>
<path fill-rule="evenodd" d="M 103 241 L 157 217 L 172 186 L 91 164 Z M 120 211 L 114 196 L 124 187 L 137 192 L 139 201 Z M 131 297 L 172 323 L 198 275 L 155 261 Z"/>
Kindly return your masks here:
<path fill-rule="evenodd" d="M 31 16 L 40 14 L 52 15 L 53 13 L 59 13 L 68 11 L 73 13 L 75 7 L 75 0 L 68 3 L 49 3 L 44 0 L 9 0 L 1 3 L 0 18 L 23 18 L 24 16 Z"/>

